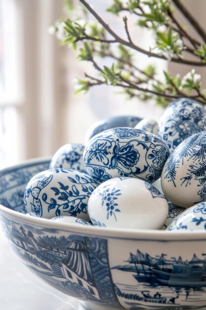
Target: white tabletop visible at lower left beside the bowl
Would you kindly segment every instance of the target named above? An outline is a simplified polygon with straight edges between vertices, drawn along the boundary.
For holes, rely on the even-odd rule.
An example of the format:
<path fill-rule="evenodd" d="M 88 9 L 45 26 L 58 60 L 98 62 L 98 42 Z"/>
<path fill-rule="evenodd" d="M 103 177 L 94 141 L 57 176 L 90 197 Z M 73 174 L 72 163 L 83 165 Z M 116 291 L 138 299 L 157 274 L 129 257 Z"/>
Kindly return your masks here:
<path fill-rule="evenodd" d="M 0 224 L 0 310 L 85 310 L 71 298 L 44 283 L 10 248 Z"/>

